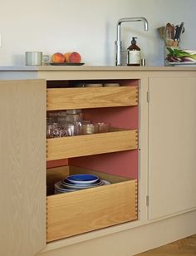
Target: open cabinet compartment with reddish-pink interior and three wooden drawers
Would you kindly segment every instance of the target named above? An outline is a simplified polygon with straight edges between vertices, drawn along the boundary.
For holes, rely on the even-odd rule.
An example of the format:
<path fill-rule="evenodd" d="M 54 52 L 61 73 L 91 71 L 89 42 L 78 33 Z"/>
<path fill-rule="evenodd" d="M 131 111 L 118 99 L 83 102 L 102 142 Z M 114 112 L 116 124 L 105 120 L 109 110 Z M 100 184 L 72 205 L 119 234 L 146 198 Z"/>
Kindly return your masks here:
<path fill-rule="evenodd" d="M 48 83 L 47 111 L 81 109 L 87 119 L 109 122 L 111 129 L 47 139 L 47 242 L 138 218 L 139 80 L 118 82 L 96 88 Z M 54 194 L 56 181 L 78 173 L 96 174 L 111 184 Z"/>

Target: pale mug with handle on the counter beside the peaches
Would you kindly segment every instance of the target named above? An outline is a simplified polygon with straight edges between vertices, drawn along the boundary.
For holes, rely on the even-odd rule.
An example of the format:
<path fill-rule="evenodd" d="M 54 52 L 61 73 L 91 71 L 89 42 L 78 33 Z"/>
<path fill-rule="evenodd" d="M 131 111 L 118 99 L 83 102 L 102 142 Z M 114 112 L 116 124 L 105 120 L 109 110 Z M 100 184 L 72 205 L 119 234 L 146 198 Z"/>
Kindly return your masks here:
<path fill-rule="evenodd" d="M 42 66 L 42 63 L 48 63 L 49 56 L 42 52 L 25 52 L 25 63 L 27 66 Z"/>

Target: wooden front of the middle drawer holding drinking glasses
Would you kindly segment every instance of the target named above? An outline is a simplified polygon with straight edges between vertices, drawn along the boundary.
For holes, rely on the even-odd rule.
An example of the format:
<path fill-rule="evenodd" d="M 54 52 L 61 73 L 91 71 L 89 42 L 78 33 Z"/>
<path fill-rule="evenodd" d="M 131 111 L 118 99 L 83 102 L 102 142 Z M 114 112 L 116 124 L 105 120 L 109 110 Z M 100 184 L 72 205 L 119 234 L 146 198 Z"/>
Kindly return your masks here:
<path fill-rule="evenodd" d="M 115 130 L 93 135 L 47 139 L 47 160 L 135 150 L 137 147 L 137 130 Z"/>

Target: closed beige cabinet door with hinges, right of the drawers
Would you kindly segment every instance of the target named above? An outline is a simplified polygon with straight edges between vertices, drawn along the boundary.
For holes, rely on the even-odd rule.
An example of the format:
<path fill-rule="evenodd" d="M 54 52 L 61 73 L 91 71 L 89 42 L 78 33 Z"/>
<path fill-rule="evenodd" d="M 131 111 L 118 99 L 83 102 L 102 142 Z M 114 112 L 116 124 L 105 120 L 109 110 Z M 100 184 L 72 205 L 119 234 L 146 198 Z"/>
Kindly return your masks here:
<path fill-rule="evenodd" d="M 196 77 L 149 78 L 149 219 L 196 207 Z"/>

